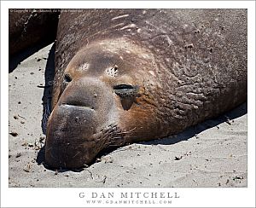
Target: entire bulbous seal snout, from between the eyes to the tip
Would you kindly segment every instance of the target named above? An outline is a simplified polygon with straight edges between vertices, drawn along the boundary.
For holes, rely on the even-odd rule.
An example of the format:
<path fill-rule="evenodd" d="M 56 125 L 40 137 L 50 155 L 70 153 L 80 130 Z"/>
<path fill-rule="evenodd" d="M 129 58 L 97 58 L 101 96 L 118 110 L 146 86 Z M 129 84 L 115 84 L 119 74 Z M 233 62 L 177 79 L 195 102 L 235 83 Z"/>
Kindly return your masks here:
<path fill-rule="evenodd" d="M 50 167 L 89 165 L 104 148 L 101 128 L 110 122 L 113 96 L 98 80 L 79 81 L 67 86 L 49 117 L 45 161 Z"/>

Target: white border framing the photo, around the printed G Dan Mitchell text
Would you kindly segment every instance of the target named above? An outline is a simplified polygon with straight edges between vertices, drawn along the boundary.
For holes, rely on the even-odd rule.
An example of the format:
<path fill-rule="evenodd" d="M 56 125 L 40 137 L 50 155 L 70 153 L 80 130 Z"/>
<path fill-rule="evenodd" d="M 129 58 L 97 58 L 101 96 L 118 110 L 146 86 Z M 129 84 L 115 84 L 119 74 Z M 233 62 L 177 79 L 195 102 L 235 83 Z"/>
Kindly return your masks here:
<path fill-rule="evenodd" d="M 77 9 L 77 8 L 226 8 L 248 9 L 248 187 L 247 188 L 101 188 L 100 191 L 177 192 L 180 199 L 173 200 L 175 207 L 255 207 L 255 2 L 248 1 L 150 1 L 150 2 L 1 2 L 1 205 L 3 207 L 85 207 L 79 193 L 99 192 L 98 188 L 9 188 L 8 113 L 9 113 L 9 58 L 8 9 Z M 101 206 L 101 205 L 89 205 Z M 103 205 L 113 207 L 115 205 Z M 116 205 L 120 206 L 120 205 Z M 124 205 L 122 205 L 124 206 Z M 126 205 L 127 206 L 127 205 Z M 132 206 L 132 205 L 128 205 Z M 135 205 L 139 206 L 139 205 Z M 152 205 L 141 205 L 152 206 Z M 153 205 L 155 206 L 155 205 Z M 157 205 L 160 206 L 160 205 Z M 163 205 L 164 206 L 164 205 Z"/>

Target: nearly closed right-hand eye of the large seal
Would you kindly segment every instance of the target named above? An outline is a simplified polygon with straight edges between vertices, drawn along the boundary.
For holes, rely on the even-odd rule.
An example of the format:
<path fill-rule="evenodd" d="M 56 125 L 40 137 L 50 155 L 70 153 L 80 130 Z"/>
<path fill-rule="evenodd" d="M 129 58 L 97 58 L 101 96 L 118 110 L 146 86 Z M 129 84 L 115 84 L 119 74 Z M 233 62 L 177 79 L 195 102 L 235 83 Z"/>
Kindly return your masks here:
<path fill-rule="evenodd" d="M 131 84 L 119 84 L 113 86 L 113 90 L 116 95 L 119 95 L 121 98 L 134 97 L 137 95 L 138 86 L 132 86 Z"/>

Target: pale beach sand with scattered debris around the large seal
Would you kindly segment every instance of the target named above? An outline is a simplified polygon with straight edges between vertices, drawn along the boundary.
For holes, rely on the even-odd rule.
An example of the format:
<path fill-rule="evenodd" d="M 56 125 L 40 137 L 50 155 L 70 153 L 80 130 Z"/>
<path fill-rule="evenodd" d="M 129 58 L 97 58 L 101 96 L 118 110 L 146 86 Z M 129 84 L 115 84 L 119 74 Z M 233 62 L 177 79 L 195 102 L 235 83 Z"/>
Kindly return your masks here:
<path fill-rule="evenodd" d="M 52 46 L 10 65 L 9 187 L 247 187 L 247 103 L 176 136 L 119 147 L 81 171 L 45 168 Z"/>

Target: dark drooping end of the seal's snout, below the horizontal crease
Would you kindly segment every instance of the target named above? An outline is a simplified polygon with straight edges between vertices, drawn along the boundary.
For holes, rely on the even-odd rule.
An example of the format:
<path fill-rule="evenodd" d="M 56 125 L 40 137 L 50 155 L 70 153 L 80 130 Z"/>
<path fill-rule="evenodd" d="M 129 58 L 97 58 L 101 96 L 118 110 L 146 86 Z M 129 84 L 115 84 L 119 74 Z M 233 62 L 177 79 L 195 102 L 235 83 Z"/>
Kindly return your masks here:
<path fill-rule="evenodd" d="M 47 128 L 45 160 L 54 168 L 78 168 L 89 164 L 95 147 L 96 118 L 87 107 L 55 107 Z"/>

